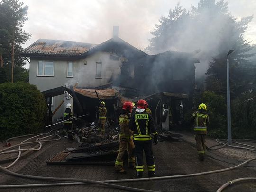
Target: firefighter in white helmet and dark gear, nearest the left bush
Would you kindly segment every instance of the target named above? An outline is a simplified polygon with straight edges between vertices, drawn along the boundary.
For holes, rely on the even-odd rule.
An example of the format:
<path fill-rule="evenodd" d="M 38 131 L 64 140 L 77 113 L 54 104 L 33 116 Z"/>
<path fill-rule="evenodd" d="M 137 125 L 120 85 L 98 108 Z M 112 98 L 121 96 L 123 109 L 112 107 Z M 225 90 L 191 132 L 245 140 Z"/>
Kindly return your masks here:
<path fill-rule="evenodd" d="M 70 140 L 73 140 L 73 134 L 72 134 L 72 119 L 73 118 L 73 115 L 72 115 L 72 112 L 71 112 L 71 107 L 72 105 L 70 103 L 67 104 L 66 106 L 66 109 L 65 109 L 65 112 L 64 112 L 64 117 L 63 117 L 63 120 L 68 120 L 68 121 L 64 121 L 63 123 L 63 129 L 65 130 L 68 138 Z"/>

